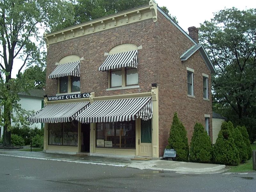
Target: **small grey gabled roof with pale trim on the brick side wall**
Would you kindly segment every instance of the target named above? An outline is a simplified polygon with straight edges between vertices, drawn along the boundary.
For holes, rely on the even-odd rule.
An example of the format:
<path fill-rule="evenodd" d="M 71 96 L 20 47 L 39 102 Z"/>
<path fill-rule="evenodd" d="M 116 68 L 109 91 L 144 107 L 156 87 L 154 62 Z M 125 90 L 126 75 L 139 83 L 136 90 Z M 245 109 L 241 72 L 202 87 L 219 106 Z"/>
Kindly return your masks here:
<path fill-rule="evenodd" d="M 207 52 L 204 49 L 203 44 L 199 43 L 199 44 L 193 45 L 190 49 L 188 49 L 185 53 L 183 53 L 180 56 L 180 60 L 182 60 L 182 61 L 188 60 L 188 58 L 191 57 L 197 50 L 199 50 L 201 56 L 204 59 L 206 66 L 211 71 L 211 73 L 213 73 L 213 74 L 217 73 L 216 69 L 214 68 L 214 65 L 212 64 L 212 61 L 209 58 L 209 55 L 207 54 Z"/>

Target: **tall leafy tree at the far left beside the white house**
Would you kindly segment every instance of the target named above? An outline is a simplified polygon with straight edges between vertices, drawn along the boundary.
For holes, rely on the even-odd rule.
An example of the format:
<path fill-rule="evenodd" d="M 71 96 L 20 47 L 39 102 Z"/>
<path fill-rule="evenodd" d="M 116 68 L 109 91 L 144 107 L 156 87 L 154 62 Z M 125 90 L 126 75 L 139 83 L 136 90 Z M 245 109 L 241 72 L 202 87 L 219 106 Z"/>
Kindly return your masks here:
<path fill-rule="evenodd" d="M 0 0 L 0 91 L 4 119 L 3 145 L 11 144 L 12 111 L 19 109 L 18 92 L 26 91 L 30 84 L 21 79 L 21 70 L 26 65 L 40 64 L 40 48 L 43 38 L 40 29 L 61 28 L 63 21 L 73 22 L 73 5 L 55 0 Z M 17 68 L 14 59 L 23 60 L 17 79 L 11 79 L 12 69 Z M 43 61 L 44 62 L 44 61 Z M 29 86 L 28 86 L 29 85 Z M 25 89 L 25 90 L 24 90 Z"/>

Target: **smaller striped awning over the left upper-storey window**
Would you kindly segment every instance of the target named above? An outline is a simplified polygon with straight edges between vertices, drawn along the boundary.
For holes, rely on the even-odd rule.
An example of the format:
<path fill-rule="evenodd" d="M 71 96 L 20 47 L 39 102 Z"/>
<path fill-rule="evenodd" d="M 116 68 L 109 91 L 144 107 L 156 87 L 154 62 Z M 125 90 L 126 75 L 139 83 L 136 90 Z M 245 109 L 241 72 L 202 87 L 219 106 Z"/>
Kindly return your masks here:
<path fill-rule="evenodd" d="M 58 65 L 49 75 L 49 79 L 58 77 L 77 76 L 80 77 L 80 61 Z"/>

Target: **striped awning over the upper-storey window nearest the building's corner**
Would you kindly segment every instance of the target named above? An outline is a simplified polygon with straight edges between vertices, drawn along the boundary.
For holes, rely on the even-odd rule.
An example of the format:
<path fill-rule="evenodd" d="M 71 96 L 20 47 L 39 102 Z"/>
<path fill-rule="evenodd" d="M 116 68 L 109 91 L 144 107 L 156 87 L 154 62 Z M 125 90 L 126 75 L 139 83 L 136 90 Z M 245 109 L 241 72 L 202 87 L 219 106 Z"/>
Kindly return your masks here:
<path fill-rule="evenodd" d="M 138 68 L 138 50 L 108 55 L 99 71 L 108 71 L 122 67 Z"/>

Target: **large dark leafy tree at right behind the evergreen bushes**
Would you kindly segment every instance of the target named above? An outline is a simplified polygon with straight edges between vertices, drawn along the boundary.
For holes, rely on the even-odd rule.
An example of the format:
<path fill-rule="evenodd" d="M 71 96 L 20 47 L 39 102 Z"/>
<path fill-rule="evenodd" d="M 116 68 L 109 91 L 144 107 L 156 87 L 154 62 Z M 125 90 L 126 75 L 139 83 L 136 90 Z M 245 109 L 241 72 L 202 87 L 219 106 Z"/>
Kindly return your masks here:
<path fill-rule="evenodd" d="M 217 12 L 201 24 L 199 39 L 215 65 L 212 76 L 216 112 L 235 125 L 245 125 L 256 140 L 256 9 Z"/>

